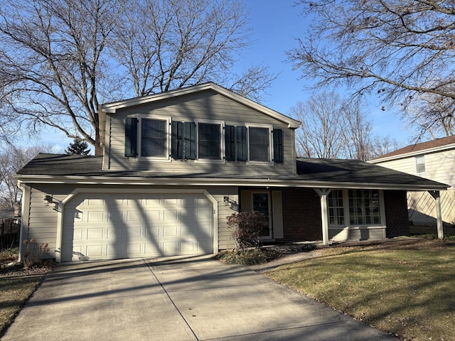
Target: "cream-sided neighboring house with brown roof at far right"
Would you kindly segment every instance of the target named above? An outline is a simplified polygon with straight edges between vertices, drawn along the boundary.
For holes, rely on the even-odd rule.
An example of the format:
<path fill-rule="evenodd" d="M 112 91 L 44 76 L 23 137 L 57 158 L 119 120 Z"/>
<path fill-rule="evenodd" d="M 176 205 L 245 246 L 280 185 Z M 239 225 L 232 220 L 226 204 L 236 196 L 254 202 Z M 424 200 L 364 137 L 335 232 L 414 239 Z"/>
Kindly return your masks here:
<path fill-rule="evenodd" d="M 455 136 L 412 144 L 369 162 L 450 185 L 441 193 L 441 215 L 446 224 L 455 224 Z M 430 193 L 408 192 L 407 204 L 412 224 L 436 224 L 437 210 Z"/>

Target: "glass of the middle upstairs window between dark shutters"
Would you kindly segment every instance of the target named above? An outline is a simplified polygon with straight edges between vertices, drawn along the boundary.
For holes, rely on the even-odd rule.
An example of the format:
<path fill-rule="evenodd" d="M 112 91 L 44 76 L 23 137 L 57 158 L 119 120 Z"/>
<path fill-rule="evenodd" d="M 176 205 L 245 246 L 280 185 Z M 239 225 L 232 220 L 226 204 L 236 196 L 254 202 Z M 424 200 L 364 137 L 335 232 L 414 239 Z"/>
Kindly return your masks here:
<path fill-rule="evenodd" d="M 198 124 L 199 158 L 221 159 L 221 126 L 220 124 Z"/>

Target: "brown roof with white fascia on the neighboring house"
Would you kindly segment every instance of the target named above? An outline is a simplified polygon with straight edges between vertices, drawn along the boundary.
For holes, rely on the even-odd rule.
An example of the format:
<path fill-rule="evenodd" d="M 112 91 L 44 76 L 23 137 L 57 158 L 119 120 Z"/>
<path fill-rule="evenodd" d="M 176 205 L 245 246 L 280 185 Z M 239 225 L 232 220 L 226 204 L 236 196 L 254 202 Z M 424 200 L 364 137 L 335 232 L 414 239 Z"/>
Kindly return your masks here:
<path fill-rule="evenodd" d="M 455 148 L 455 136 L 442 137 L 441 139 L 434 139 L 432 141 L 421 142 L 419 144 L 410 144 L 409 146 L 397 149 L 396 151 L 378 156 L 378 158 L 373 158 L 368 162 L 378 163 L 382 161 L 390 161 L 397 158 L 405 158 L 422 153 L 434 153 L 436 151 L 444 151 L 451 148 Z"/>

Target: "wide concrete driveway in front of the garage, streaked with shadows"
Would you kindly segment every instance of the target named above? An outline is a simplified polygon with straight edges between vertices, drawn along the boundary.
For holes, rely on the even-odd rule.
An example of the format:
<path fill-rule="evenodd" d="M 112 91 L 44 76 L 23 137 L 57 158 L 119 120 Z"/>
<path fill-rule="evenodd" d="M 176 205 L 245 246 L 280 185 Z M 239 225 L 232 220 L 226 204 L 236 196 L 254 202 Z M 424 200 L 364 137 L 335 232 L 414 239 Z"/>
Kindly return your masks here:
<path fill-rule="evenodd" d="M 208 256 L 63 264 L 1 340 L 397 340 Z"/>

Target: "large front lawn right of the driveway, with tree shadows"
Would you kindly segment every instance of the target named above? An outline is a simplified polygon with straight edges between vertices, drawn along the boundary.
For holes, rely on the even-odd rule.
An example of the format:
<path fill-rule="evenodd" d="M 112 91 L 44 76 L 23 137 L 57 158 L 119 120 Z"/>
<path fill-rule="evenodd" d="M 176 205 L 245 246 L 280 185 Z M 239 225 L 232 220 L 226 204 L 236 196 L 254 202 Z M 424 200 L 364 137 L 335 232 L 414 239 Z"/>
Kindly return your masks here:
<path fill-rule="evenodd" d="M 455 242 L 319 251 L 267 275 L 402 340 L 455 340 Z"/>

